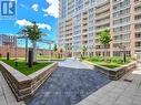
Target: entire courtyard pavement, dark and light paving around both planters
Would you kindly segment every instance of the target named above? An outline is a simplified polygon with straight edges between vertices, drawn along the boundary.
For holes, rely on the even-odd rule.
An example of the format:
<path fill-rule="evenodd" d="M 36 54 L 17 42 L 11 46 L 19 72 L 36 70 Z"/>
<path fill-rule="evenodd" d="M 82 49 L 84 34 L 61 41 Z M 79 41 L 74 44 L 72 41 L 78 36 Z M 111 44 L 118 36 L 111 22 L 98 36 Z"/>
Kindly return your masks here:
<path fill-rule="evenodd" d="M 0 74 L 0 105 L 140 105 L 140 66 L 139 63 L 119 81 L 111 81 L 78 60 L 60 61 L 36 94 L 21 102 L 17 102 Z"/>

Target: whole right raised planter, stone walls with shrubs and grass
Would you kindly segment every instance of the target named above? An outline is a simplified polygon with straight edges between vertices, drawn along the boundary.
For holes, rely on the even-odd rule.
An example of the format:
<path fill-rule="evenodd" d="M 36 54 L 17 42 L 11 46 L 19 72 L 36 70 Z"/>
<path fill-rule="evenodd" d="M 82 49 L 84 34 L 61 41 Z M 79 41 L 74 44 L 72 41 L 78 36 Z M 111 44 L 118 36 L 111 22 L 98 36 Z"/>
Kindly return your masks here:
<path fill-rule="evenodd" d="M 84 59 L 84 63 L 94 65 L 94 69 L 107 74 L 111 80 L 121 78 L 127 72 L 135 67 L 137 62 L 127 59 L 123 62 L 122 57 L 109 57 L 107 61 L 103 57 Z"/>

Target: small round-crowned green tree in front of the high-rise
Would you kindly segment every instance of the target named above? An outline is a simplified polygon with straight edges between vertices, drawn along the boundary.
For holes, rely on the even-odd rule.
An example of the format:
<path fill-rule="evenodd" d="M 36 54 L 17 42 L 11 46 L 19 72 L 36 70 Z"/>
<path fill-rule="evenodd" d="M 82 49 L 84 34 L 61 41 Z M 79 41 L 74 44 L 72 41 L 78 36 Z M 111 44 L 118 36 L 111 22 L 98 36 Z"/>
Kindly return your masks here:
<path fill-rule="evenodd" d="M 100 38 L 99 38 L 99 41 L 100 43 L 103 45 L 103 49 L 104 49 L 104 60 L 105 60 L 105 50 L 107 50 L 107 46 L 110 44 L 111 42 L 111 35 L 110 35 L 110 31 L 109 30 L 103 30 L 101 33 L 100 33 Z"/>

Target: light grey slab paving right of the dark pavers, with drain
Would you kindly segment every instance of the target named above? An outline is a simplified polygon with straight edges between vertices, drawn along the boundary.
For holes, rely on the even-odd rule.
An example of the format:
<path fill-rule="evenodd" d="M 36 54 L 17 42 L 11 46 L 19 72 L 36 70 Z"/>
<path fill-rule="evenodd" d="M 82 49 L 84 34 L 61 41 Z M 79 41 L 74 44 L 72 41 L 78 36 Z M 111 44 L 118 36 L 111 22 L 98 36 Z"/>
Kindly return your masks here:
<path fill-rule="evenodd" d="M 107 84 L 77 105 L 141 105 L 141 65 L 120 81 Z"/>

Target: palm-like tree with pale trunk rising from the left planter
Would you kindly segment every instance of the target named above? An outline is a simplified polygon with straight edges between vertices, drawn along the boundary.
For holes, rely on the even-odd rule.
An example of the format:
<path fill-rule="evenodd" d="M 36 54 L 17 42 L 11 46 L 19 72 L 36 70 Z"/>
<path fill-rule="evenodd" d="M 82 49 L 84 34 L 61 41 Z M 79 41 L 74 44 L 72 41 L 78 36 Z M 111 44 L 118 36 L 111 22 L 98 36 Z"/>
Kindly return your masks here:
<path fill-rule="evenodd" d="M 24 32 L 31 40 L 33 48 L 33 62 L 37 62 L 37 41 L 39 41 L 41 35 L 44 35 L 44 33 L 39 29 L 37 22 L 32 22 L 32 25 L 27 25 L 21 30 L 21 32 Z"/>

